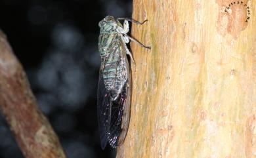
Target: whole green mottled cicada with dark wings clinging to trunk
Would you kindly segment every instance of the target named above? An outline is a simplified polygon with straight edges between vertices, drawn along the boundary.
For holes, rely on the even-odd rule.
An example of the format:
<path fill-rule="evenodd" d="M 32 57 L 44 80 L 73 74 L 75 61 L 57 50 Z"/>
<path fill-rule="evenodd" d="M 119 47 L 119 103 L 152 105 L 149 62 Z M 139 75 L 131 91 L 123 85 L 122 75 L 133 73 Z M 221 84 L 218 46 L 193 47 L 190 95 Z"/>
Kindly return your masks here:
<path fill-rule="evenodd" d="M 123 25 L 119 20 L 124 20 Z M 106 16 L 98 23 L 100 35 L 100 74 L 98 80 L 98 125 L 102 149 L 106 144 L 116 148 L 125 140 L 129 127 L 131 103 L 131 75 L 127 55 L 133 56 L 126 43 L 136 39 L 129 37 L 128 21 L 144 24 L 129 18 Z M 139 43 L 140 46 L 150 49 Z M 134 60 L 133 60 L 134 61 Z"/>

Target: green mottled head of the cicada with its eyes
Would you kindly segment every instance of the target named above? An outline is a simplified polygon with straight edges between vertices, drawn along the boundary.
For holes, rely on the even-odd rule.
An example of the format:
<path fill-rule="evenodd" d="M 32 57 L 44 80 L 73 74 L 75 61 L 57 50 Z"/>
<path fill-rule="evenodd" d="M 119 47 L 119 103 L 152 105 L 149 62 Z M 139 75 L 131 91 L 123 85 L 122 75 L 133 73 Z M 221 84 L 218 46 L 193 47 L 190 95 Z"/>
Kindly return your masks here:
<path fill-rule="evenodd" d="M 116 33 L 117 21 L 114 16 L 108 15 L 98 23 L 98 26 L 100 33 Z"/>

